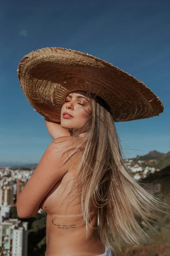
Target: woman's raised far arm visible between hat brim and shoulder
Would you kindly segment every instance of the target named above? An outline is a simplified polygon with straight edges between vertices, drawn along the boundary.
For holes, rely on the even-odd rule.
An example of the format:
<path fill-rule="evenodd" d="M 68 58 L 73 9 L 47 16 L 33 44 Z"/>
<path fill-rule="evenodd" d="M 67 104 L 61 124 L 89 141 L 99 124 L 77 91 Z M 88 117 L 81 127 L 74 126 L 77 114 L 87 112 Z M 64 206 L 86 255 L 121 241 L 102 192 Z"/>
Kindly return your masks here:
<path fill-rule="evenodd" d="M 53 138 L 53 140 L 62 137 L 62 136 L 70 136 L 70 133 L 67 129 L 61 127 L 60 123 L 55 123 L 53 121 L 50 121 L 45 117 L 44 119 L 46 127 Z"/>

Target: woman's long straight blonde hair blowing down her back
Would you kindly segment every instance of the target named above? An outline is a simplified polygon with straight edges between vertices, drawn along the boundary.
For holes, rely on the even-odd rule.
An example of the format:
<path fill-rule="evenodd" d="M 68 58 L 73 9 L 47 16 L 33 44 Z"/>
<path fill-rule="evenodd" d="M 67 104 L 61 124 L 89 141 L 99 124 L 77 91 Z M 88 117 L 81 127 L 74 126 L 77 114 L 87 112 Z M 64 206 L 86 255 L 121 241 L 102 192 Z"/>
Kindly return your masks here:
<path fill-rule="evenodd" d="M 87 122 L 71 134 L 75 142 L 81 133 L 85 135 L 66 159 L 76 152 L 81 154 L 72 190 L 76 184 L 80 187 L 86 237 L 92 200 L 98 211 L 100 238 L 104 245 L 111 250 L 115 250 L 114 245 L 121 250 L 123 242 L 141 246 L 147 234 L 141 228 L 140 220 L 151 226 L 150 222 L 157 218 L 155 211 L 165 204 L 150 195 L 129 172 L 107 103 L 94 94 L 87 93 L 87 96 L 91 98 Z"/>

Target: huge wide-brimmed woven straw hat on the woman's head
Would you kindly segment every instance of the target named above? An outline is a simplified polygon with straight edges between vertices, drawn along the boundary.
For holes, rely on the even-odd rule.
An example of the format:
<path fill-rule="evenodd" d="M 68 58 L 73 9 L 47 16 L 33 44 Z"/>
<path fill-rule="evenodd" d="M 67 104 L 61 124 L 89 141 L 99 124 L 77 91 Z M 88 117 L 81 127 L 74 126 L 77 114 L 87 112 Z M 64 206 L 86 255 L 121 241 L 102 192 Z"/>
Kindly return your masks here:
<path fill-rule="evenodd" d="M 103 98 L 115 122 L 163 112 L 163 103 L 143 82 L 90 54 L 60 47 L 43 48 L 25 55 L 17 71 L 29 103 L 54 122 L 60 122 L 64 97 L 74 91 Z"/>

